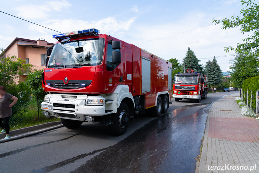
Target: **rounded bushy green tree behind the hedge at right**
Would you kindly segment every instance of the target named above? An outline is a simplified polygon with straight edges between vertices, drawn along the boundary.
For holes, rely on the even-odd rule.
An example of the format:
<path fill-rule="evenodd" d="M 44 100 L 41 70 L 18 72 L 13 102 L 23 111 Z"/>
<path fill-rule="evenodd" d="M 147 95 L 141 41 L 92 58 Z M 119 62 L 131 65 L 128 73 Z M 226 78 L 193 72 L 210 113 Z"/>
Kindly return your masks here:
<path fill-rule="evenodd" d="M 245 79 L 259 75 L 257 57 L 251 52 L 237 53 L 235 58 L 231 59 L 230 69 L 231 81 L 236 87 L 242 88 Z"/>

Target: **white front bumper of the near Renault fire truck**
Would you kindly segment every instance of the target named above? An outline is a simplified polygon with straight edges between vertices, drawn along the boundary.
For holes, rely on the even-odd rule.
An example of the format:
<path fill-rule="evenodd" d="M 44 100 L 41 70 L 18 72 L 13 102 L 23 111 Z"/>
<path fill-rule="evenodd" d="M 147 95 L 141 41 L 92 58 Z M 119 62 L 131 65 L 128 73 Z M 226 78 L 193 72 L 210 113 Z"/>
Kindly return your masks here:
<path fill-rule="evenodd" d="M 102 96 L 86 96 L 86 95 L 66 95 L 66 94 L 48 94 L 49 102 L 42 102 L 42 104 L 52 105 L 51 109 L 45 109 L 41 106 L 43 111 L 49 112 L 56 118 L 71 119 L 86 121 L 87 116 L 104 116 L 114 113 L 113 110 L 105 111 L 105 102 L 103 105 L 86 105 L 86 99 L 101 99 Z M 64 96 L 65 99 L 64 99 Z M 67 98 L 68 96 L 72 98 Z M 112 102 L 110 102 L 112 103 Z"/>

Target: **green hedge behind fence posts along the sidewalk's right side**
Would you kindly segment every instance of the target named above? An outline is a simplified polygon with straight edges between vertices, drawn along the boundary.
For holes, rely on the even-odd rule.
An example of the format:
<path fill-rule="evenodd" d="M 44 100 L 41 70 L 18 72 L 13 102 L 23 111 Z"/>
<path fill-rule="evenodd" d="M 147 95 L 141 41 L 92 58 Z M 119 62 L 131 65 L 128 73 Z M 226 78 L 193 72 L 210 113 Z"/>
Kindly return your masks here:
<path fill-rule="evenodd" d="M 248 105 L 250 105 L 250 93 L 252 90 L 252 95 L 254 98 L 252 99 L 252 109 L 255 110 L 255 104 L 256 104 L 256 91 L 259 89 L 259 76 L 251 77 L 248 79 L 245 79 L 245 81 L 242 84 L 242 91 L 245 91 L 244 93 L 244 102 L 246 103 L 246 94 L 248 90 Z"/>

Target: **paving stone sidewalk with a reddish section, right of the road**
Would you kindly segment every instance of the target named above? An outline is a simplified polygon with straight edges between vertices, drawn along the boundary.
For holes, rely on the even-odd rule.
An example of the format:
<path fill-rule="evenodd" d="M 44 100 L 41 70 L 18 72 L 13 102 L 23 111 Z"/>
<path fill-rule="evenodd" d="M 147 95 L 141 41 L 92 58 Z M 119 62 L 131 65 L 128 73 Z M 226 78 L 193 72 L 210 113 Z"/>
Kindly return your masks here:
<path fill-rule="evenodd" d="M 238 95 L 236 92 L 223 97 L 209 109 L 199 173 L 259 172 L 259 122 L 241 115 L 234 97 Z M 211 170 L 215 166 L 216 170 Z"/>

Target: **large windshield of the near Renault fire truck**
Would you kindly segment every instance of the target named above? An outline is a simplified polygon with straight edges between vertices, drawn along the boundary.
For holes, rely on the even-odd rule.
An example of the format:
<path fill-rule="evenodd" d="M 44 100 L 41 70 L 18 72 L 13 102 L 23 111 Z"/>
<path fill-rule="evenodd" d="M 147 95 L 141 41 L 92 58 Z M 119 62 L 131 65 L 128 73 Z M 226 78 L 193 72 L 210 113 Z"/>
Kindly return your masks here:
<path fill-rule="evenodd" d="M 67 42 L 64 45 L 58 43 L 54 46 L 50 55 L 48 67 L 64 66 L 97 66 L 102 63 L 104 52 L 104 39 L 83 39 Z M 77 52 L 76 48 L 83 48 Z"/>

